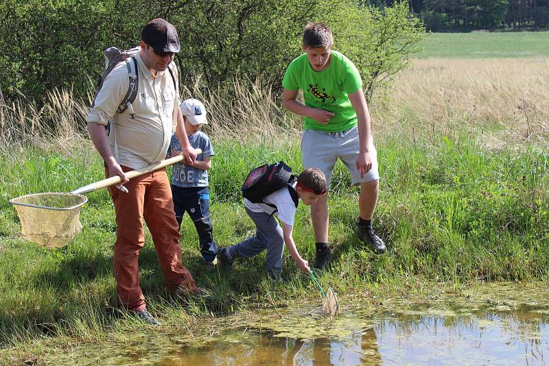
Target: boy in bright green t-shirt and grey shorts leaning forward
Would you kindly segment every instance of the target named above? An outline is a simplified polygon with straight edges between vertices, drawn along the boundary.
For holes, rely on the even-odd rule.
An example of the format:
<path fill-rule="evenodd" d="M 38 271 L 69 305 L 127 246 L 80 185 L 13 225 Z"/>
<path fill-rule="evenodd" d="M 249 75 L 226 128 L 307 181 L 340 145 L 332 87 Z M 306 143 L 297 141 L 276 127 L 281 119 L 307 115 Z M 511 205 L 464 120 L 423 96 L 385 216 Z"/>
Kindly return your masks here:
<path fill-rule="evenodd" d="M 384 253 L 385 243 L 371 225 L 379 172 L 360 73 L 351 60 L 332 51 L 331 30 L 324 23 L 307 24 L 302 47 L 305 53 L 290 62 L 282 86 L 285 108 L 305 117 L 303 167 L 323 171 L 329 186 L 331 171 L 338 158 L 342 160 L 353 186 L 360 185 L 356 234 L 374 252 Z M 299 89 L 303 90 L 305 105 L 296 100 Z M 311 219 L 316 239 L 314 267 L 323 268 L 331 258 L 327 195 L 311 206 Z"/>

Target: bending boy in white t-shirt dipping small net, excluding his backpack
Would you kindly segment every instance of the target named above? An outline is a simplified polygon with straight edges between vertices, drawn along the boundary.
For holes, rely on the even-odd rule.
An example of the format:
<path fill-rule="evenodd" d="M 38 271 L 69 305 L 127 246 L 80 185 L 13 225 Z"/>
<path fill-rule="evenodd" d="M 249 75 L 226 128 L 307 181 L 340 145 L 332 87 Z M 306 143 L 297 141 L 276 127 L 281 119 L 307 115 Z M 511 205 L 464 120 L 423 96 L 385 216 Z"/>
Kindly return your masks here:
<path fill-rule="evenodd" d="M 285 243 L 298 267 L 309 273 L 309 263 L 299 255 L 292 237 L 297 201 L 294 202 L 290 189 L 297 193 L 303 204 L 309 206 L 326 194 L 326 178 L 318 169 L 305 169 L 291 187 L 283 187 L 267 195 L 264 203 L 254 204 L 245 198 L 244 208 L 255 223 L 255 235 L 231 247 L 218 249 L 218 260 L 223 267 L 231 267 L 235 258 L 250 258 L 267 249 L 267 273 L 270 278 L 279 281 Z M 273 215 L 282 222 L 282 228 Z"/>

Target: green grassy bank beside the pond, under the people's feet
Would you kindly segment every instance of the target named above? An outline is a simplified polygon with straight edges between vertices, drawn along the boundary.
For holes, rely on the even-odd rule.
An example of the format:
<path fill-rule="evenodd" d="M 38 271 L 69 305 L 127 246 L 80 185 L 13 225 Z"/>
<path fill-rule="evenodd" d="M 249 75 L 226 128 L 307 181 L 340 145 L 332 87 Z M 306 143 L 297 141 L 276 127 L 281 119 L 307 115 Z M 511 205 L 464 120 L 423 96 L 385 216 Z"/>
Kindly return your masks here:
<path fill-rule="evenodd" d="M 90 147 L 89 144 L 87 147 Z M 253 233 L 239 197 L 250 167 L 283 159 L 300 168 L 299 145 L 248 145 L 217 141 L 213 160 L 211 217 L 215 240 L 230 245 Z M 378 144 L 382 193 L 375 227 L 388 252 L 372 254 L 353 235 L 357 192 L 349 188 L 342 165 L 334 174 L 331 209 L 331 269 L 319 276 L 342 294 L 428 291 L 429 284 L 464 286 L 469 282 L 537 281 L 548 278 L 548 155 L 535 147 L 520 151 L 483 151 L 472 141 L 406 141 Z M 99 158 L 67 158 L 24 151 L 3 158 L 1 191 L 0 339 L 3 347 L 49 352 L 71 342 L 97 342 L 139 322 L 121 310 L 115 292 L 112 255 L 115 216 L 105 191 L 89 193 L 81 213 L 84 230 L 67 247 L 46 250 L 19 237 L 16 214 L 6 199 L 23 193 L 70 191 L 100 180 Z M 46 175 L 45 175 L 46 174 Z M 45 179 L 47 177 L 47 179 Z M 47 219 L 47 218 L 45 218 Z M 295 239 L 303 256 L 314 260 L 314 236 L 307 208 L 300 206 Z M 306 299 L 319 300 L 314 282 L 285 255 L 283 284 L 264 275 L 264 255 L 238 260 L 233 270 L 208 269 L 200 263 L 198 238 L 187 219 L 182 228 L 184 264 L 207 302 L 180 304 L 165 292 L 154 247 L 140 256 L 141 286 L 150 310 L 174 331 L 185 317 L 201 319 Z M 111 335 L 109 335 L 111 334 Z M 56 337 L 46 337 L 56 336 Z M 121 341 L 119 339 L 119 341 Z M 12 349 L 13 351 L 13 349 Z M 27 352 L 27 353 L 25 353 Z M 9 353 L 10 357 L 14 353 Z M 8 356 L 6 356 L 8 357 Z"/>

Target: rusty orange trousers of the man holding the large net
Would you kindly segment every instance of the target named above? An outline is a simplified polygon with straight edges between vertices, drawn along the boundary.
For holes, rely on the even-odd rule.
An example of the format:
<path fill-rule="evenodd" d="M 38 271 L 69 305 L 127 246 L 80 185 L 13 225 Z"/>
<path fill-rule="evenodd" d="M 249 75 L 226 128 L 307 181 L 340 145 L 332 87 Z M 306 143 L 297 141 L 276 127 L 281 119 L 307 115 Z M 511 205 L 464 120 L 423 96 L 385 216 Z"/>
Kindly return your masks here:
<path fill-rule="evenodd" d="M 108 176 L 108 169 L 106 175 Z M 124 172 L 132 170 L 122 167 Z M 145 297 L 139 286 L 139 250 L 145 245 L 143 219 L 152 234 L 169 291 L 178 286 L 198 291 L 191 273 L 181 264 L 179 230 L 174 213 L 170 181 L 165 169 L 133 178 L 124 184 L 129 193 L 110 186 L 108 191 L 116 211 L 115 280 L 120 300 L 128 310 L 145 309 Z"/>

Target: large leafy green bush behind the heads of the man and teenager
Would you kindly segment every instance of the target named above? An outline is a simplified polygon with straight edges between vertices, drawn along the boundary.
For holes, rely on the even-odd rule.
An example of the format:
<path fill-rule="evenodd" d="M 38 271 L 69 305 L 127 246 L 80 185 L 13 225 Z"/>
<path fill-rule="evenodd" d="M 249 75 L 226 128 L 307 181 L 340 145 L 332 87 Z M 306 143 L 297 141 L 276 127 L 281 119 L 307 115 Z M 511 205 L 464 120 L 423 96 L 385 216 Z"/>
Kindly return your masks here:
<path fill-rule="evenodd" d="M 404 67 L 423 32 L 405 3 L 381 11 L 351 0 L 5 0 L 0 14 L 0 68 L 8 71 L 0 91 L 39 105 L 54 88 L 85 98 L 102 72 L 102 50 L 136 45 L 143 23 L 158 16 L 178 29 L 182 84 L 198 79 L 202 88 L 258 75 L 280 88 L 303 27 L 318 20 L 334 27 L 337 48 L 357 64 L 371 96 Z"/>

